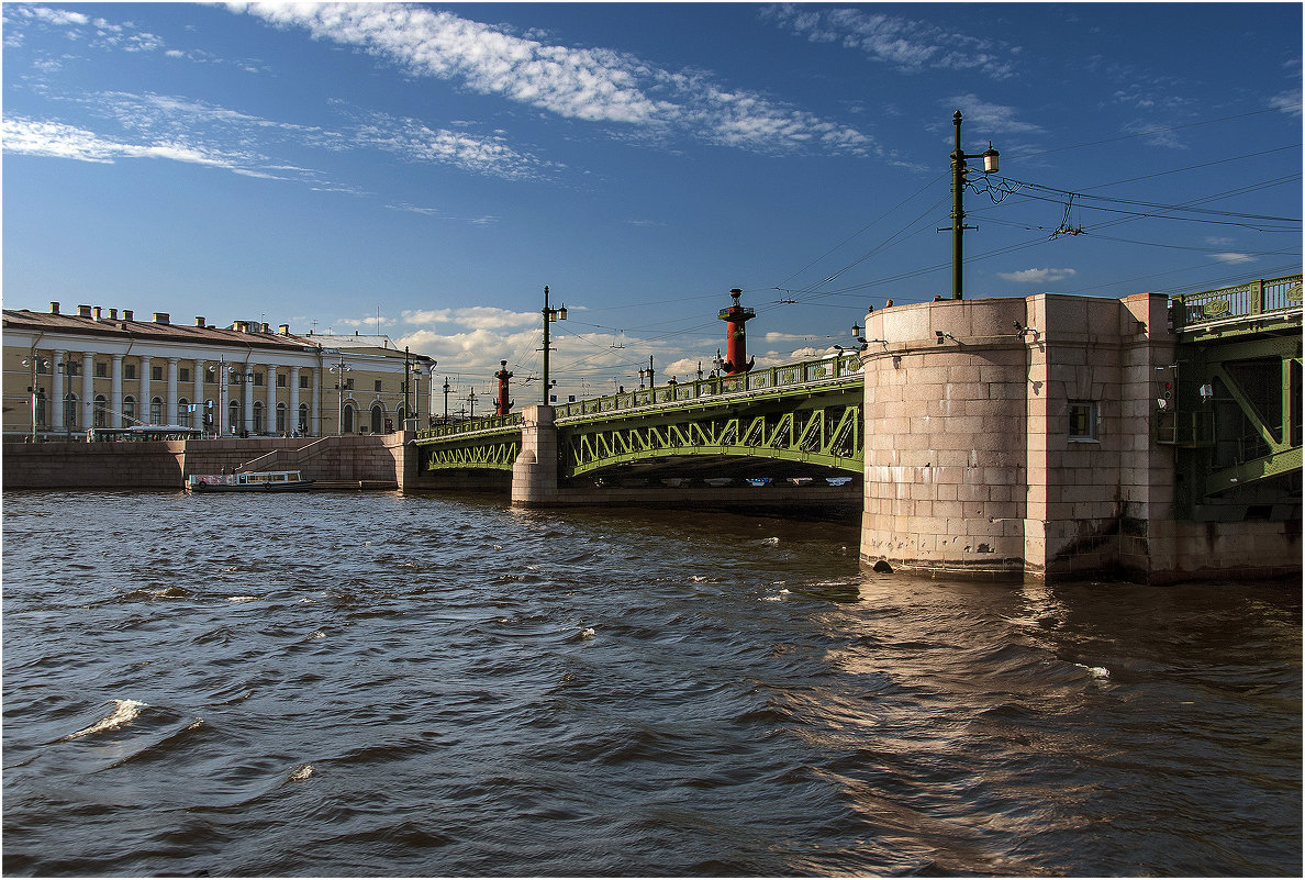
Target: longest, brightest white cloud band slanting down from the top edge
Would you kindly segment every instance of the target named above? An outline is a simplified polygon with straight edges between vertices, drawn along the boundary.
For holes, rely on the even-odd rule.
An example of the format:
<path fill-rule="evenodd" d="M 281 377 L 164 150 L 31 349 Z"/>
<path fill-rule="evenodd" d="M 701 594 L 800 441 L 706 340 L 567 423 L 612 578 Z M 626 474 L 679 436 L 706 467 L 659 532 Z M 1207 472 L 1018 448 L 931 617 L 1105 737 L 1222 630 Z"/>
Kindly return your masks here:
<path fill-rule="evenodd" d="M 873 141 L 702 73 L 660 69 L 606 48 L 544 43 L 450 12 L 399 4 L 228 4 L 278 27 L 358 46 L 412 76 L 459 82 L 564 119 L 681 132 L 757 151 L 823 149 L 861 154 Z"/>

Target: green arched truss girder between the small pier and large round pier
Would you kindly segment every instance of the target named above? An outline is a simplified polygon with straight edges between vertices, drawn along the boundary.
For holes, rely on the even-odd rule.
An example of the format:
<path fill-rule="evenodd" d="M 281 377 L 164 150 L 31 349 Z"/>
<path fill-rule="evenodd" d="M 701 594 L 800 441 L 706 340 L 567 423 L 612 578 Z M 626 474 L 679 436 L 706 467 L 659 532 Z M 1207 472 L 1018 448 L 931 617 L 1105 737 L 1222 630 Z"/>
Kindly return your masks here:
<path fill-rule="evenodd" d="M 559 427 L 564 478 L 690 457 L 774 460 L 861 474 L 865 453 L 860 386 Z"/>

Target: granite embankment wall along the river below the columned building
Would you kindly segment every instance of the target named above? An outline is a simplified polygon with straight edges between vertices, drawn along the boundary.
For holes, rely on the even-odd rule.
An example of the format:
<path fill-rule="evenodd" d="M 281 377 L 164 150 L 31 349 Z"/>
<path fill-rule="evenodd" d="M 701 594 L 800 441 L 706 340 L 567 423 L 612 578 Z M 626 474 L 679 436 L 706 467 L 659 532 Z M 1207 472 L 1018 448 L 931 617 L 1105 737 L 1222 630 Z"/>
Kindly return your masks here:
<path fill-rule="evenodd" d="M 299 470 L 339 488 L 402 488 L 407 435 L 157 443 L 5 443 L 4 488 L 180 490 L 191 474 Z"/>

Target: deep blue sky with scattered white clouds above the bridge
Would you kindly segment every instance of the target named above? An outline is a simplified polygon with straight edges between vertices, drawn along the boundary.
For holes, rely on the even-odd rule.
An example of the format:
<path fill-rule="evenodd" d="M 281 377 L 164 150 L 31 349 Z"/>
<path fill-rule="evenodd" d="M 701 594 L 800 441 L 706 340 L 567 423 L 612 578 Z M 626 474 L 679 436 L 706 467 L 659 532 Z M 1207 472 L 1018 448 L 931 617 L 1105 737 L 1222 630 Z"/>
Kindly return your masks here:
<path fill-rule="evenodd" d="M 1300 4 L 4 4 L 4 304 L 685 379 L 950 295 L 1301 265 Z M 1074 234 L 1067 234 L 1074 232 Z M 518 393 L 518 402 L 529 398 Z"/>

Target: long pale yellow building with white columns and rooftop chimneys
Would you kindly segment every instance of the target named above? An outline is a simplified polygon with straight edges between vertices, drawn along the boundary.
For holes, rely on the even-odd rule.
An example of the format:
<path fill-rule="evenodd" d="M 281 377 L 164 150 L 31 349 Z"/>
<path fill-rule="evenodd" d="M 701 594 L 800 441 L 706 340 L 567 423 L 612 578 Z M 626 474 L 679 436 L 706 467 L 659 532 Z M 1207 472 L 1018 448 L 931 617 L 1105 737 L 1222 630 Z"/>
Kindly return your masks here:
<path fill-rule="evenodd" d="M 172 324 L 163 312 L 4 309 L 4 435 L 176 424 L 210 436 L 381 433 L 432 413 L 435 360 L 384 336 Z M 427 400 L 422 400 L 422 396 Z"/>

